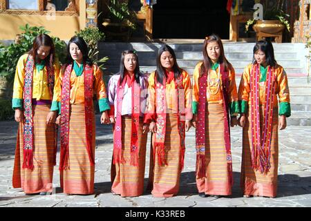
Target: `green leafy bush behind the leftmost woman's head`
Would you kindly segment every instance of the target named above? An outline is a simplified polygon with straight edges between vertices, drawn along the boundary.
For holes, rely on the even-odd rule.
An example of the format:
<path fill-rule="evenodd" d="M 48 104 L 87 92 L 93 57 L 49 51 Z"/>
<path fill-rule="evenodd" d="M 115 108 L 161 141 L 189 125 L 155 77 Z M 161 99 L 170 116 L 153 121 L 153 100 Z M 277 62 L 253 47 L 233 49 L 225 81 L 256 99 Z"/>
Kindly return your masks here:
<path fill-rule="evenodd" d="M 42 26 L 37 27 L 26 24 L 26 26 L 19 28 L 23 32 L 15 39 L 15 43 L 10 44 L 10 46 L 0 47 L 0 75 L 6 77 L 9 83 L 12 83 L 14 80 L 15 68 L 19 57 L 30 50 L 35 37 L 40 34 L 48 35 L 50 33 Z M 66 58 L 66 43 L 58 37 L 52 37 L 52 39 L 55 44 L 57 59 L 63 63 Z"/>

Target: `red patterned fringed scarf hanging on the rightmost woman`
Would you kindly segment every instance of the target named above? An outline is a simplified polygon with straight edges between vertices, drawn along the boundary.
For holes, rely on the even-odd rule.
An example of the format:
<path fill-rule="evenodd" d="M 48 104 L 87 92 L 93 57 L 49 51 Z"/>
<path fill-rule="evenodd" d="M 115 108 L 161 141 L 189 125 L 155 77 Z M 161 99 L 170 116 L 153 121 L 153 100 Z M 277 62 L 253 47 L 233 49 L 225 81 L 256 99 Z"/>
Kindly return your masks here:
<path fill-rule="evenodd" d="M 261 130 L 259 115 L 260 97 L 260 66 L 255 64 L 250 75 L 251 126 L 252 126 L 252 168 L 267 173 L 270 169 L 270 145 L 272 137 L 273 102 L 275 93 L 275 75 L 270 66 L 265 81 L 265 111 L 263 113 L 263 128 Z M 262 133 L 261 133 L 262 131 Z"/>

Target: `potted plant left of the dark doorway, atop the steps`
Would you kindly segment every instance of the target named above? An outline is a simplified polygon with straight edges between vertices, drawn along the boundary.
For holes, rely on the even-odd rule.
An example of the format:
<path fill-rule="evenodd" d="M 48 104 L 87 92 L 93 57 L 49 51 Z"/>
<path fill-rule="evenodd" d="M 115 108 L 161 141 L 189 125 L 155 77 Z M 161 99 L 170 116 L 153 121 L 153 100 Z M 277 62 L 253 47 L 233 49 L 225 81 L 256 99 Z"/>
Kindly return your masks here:
<path fill-rule="evenodd" d="M 137 28 L 135 12 L 129 10 L 127 1 L 110 0 L 106 6 L 109 9 L 109 15 L 102 24 L 108 39 L 119 37 L 128 40 L 133 30 Z"/>

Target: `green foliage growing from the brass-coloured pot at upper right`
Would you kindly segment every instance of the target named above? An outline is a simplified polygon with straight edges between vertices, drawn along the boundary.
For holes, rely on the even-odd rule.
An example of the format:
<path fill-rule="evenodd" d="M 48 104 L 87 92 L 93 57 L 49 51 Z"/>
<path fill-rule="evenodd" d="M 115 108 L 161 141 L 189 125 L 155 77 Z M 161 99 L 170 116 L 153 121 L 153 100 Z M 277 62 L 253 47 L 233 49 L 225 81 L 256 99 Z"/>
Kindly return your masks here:
<path fill-rule="evenodd" d="M 282 8 L 283 1 L 278 1 L 274 7 L 270 7 L 268 1 L 263 1 L 263 20 L 279 20 L 285 25 L 288 32 L 290 32 L 290 23 L 286 19 L 290 15 L 286 14 Z M 249 19 L 245 24 L 245 32 L 248 32 L 249 27 L 254 25 L 255 22 L 255 19 Z"/>

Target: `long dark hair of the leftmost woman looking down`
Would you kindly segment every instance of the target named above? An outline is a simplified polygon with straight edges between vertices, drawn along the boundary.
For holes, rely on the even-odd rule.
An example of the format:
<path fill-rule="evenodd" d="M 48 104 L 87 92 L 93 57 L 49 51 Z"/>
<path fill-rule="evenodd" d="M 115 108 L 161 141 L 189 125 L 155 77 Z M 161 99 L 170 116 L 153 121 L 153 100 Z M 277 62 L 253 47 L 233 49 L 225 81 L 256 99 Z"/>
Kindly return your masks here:
<path fill-rule="evenodd" d="M 46 56 L 44 61 L 46 61 L 47 66 L 53 66 L 53 63 L 55 61 L 55 46 L 53 43 L 53 39 L 46 34 L 41 34 L 35 37 L 35 39 L 33 40 L 32 48 L 29 50 L 28 54 L 32 55 L 37 63 L 39 63 L 37 50 L 40 48 L 40 46 L 50 47 L 50 54 Z"/>

